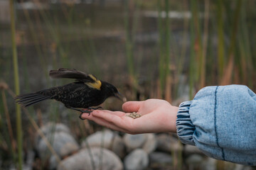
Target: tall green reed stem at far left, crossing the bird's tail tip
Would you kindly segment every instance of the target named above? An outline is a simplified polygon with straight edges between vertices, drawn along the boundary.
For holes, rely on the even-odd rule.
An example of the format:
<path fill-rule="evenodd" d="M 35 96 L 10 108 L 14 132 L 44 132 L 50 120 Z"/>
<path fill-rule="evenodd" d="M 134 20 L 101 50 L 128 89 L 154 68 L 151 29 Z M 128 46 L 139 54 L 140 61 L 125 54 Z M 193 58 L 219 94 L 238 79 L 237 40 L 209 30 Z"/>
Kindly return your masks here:
<path fill-rule="evenodd" d="M 19 78 L 18 78 L 18 57 L 16 49 L 16 27 L 14 16 L 14 0 L 10 0 L 10 12 L 11 12 L 11 47 L 14 64 L 14 84 L 16 95 L 20 94 Z M 17 129 L 17 145 L 18 145 L 18 169 L 22 169 L 23 156 L 22 156 L 22 124 L 21 124 L 21 107 L 16 104 L 16 129 Z"/>

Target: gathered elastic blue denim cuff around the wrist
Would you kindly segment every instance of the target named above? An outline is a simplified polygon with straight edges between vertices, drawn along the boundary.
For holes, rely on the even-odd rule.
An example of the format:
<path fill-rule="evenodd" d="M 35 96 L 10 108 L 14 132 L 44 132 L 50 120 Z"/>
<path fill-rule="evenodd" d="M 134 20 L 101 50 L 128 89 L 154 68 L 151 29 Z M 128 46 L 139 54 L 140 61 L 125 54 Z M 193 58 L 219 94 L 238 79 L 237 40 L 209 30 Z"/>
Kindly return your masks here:
<path fill-rule="evenodd" d="M 195 132 L 195 126 L 191 122 L 191 118 L 189 115 L 189 108 L 191 106 L 192 101 L 185 101 L 180 104 L 178 107 L 177 120 L 176 120 L 176 128 L 178 138 L 182 143 L 188 145 L 195 145 L 193 141 L 193 133 Z"/>

